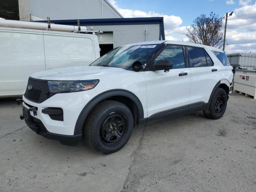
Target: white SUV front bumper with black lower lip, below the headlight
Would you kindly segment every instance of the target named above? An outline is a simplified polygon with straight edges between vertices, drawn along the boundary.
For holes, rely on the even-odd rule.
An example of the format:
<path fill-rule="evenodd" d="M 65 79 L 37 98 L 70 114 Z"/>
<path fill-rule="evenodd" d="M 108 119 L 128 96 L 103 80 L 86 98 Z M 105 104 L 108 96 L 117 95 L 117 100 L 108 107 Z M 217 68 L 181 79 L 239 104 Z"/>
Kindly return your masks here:
<path fill-rule="evenodd" d="M 74 135 L 76 121 L 84 106 L 94 96 L 96 96 L 94 90 L 63 93 L 56 94 L 42 103 L 31 102 L 23 96 L 22 105 L 23 108 L 28 110 L 27 114 L 29 116 L 29 119 L 25 118 L 25 122 L 37 134 L 49 139 L 59 140 L 62 144 L 77 146 L 82 133 L 79 132 Z M 61 108 L 63 119 L 52 119 L 49 114 L 44 112 L 46 108 Z"/>

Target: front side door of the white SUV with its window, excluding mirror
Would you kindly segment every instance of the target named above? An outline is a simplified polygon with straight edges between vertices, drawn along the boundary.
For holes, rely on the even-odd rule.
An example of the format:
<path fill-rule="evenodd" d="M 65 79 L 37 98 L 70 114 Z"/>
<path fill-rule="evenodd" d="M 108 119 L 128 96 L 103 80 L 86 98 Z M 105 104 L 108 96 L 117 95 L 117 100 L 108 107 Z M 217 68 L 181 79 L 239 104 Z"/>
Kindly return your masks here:
<path fill-rule="evenodd" d="M 190 68 L 186 65 L 184 47 L 168 45 L 154 62 L 158 60 L 170 60 L 173 69 L 169 72 L 145 72 L 148 117 L 163 115 L 178 107 L 181 107 L 180 110 L 188 110 Z"/>

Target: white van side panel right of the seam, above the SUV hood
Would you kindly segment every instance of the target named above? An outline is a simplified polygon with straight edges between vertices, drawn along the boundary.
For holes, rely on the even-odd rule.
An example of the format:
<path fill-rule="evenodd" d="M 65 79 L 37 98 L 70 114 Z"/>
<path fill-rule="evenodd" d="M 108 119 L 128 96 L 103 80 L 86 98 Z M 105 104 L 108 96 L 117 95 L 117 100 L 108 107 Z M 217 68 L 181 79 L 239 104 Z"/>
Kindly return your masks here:
<path fill-rule="evenodd" d="M 44 31 L 46 70 L 68 66 L 86 66 L 95 60 L 91 34 Z"/>

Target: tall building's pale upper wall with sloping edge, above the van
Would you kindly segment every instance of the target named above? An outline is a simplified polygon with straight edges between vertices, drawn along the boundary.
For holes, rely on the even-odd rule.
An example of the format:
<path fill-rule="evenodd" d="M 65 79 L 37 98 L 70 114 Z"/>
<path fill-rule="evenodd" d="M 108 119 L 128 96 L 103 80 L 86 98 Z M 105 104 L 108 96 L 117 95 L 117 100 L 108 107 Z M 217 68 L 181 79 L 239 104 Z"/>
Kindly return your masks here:
<path fill-rule="evenodd" d="M 20 20 L 122 18 L 105 0 L 19 0 Z"/>

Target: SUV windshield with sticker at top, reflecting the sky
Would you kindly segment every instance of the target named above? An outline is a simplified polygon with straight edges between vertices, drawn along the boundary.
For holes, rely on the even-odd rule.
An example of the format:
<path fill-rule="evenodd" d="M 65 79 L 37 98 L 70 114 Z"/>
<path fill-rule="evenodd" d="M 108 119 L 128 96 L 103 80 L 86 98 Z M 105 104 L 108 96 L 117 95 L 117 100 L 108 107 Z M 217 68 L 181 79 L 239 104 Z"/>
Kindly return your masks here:
<path fill-rule="evenodd" d="M 94 61 L 92 66 L 117 67 L 133 70 L 132 64 L 139 61 L 144 65 L 146 61 L 158 50 L 161 44 L 131 45 L 113 49 Z"/>

